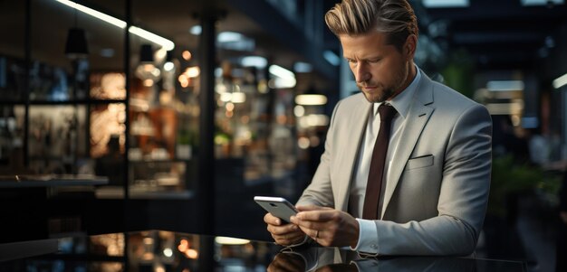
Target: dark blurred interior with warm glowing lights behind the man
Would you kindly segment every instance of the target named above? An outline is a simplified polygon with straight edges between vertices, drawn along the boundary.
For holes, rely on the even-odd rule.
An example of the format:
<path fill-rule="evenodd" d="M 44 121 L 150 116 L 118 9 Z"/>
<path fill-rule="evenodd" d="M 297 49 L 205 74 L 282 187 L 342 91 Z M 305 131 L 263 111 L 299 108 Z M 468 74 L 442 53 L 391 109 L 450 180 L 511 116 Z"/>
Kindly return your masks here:
<path fill-rule="evenodd" d="M 130 230 L 270 240 L 253 197 L 295 202 L 332 108 L 359 91 L 323 20 L 337 2 L 0 0 L 2 242 Z M 409 2 L 418 66 L 493 117 L 478 256 L 552 271 L 564 254 L 566 5 Z M 16 174 L 103 179 L 18 187 Z"/>

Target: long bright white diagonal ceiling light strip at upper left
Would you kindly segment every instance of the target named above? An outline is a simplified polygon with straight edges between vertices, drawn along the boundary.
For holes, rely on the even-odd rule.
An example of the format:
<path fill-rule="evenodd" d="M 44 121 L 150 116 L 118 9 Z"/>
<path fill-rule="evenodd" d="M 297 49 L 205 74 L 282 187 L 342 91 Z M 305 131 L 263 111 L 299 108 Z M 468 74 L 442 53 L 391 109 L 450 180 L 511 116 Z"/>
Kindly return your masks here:
<path fill-rule="evenodd" d="M 126 22 L 112 17 L 111 15 L 108 14 L 103 14 L 99 11 L 96 11 L 94 9 L 91 9 L 90 7 L 84 6 L 84 5 L 80 5 L 77 3 L 74 3 L 72 1 L 69 0 L 55 0 L 63 5 L 67 5 L 70 6 L 76 10 L 82 11 L 85 14 L 89 14 L 97 19 L 100 19 L 101 21 L 104 21 L 106 23 L 111 23 L 112 25 L 118 26 L 121 29 L 126 28 Z M 165 50 L 169 51 L 169 50 L 173 50 L 175 48 L 175 43 L 169 41 L 168 39 L 161 37 L 157 34 L 154 33 L 150 33 L 149 31 L 146 31 L 144 29 L 141 29 L 137 26 L 130 26 L 129 30 L 130 33 L 138 35 L 140 38 L 144 38 L 150 42 L 155 42 L 159 45 L 161 45 Z"/>

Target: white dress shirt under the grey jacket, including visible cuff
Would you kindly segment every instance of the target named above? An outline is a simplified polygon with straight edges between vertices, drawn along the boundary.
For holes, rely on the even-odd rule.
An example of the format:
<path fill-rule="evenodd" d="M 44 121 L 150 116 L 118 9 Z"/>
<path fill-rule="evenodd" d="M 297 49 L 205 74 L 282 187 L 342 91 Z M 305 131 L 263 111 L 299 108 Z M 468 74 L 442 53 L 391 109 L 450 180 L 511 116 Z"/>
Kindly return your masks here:
<path fill-rule="evenodd" d="M 406 89 L 399 93 L 398 96 L 386 101 L 385 103 L 390 104 L 392 107 L 396 108 L 398 114 L 392 120 L 391 134 L 389 136 L 389 147 L 386 154 L 386 165 L 384 168 L 384 177 L 382 178 L 382 186 L 380 192 L 380 203 L 378 209 L 378 217 L 380 218 L 381 211 L 383 209 L 383 195 L 386 187 L 389 185 L 387 176 L 389 173 L 389 165 L 391 164 L 391 158 L 394 154 L 396 148 L 399 145 L 399 136 L 401 134 L 402 128 L 406 124 L 406 117 L 408 116 L 409 105 L 413 98 L 414 93 L 418 89 L 418 82 L 421 79 L 421 72 L 416 66 L 416 77 L 408 85 Z M 368 175 L 370 172 L 370 161 L 372 158 L 372 151 L 374 149 L 374 143 L 376 142 L 376 137 L 380 130 L 380 114 L 378 113 L 378 108 L 381 103 L 374 103 L 372 111 L 369 112 L 368 123 L 366 125 L 366 131 L 364 133 L 364 139 L 360 145 L 359 157 L 357 160 L 356 173 L 354 176 L 354 182 L 351 184 L 351 193 L 349 197 L 349 212 L 352 216 L 359 221 L 360 225 L 360 236 L 359 242 L 353 250 L 362 252 L 376 252 L 378 249 L 378 235 L 376 230 L 376 225 L 373 220 L 363 220 L 362 210 L 364 206 L 364 195 L 366 194 L 366 184 L 368 183 Z"/>

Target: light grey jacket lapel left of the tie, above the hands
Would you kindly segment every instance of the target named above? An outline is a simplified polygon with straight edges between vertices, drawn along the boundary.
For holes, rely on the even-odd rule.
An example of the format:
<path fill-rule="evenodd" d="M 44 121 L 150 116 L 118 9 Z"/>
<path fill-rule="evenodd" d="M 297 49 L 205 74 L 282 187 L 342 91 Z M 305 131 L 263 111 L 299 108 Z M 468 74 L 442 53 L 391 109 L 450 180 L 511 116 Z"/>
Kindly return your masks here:
<path fill-rule="evenodd" d="M 341 154 L 341 163 L 339 165 L 349 165 L 348 171 L 339 171 L 339 178 L 336 179 L 338 184 L 335 184 L 335 188 L 339 188 L 337 197 L 335 200 L 335 208 L 341 211 L 348 211 L 349 206 L 349 193 L 350 193 L 350 184 L 352 178 L 354 176 L 354 167 L 358 162 L 358 154 L 360 150 L 360 143 L 362 142 L 362 138 L 364 137 L 364 131 L 366 131 L 366 123 L 368 122 L 368 117 L 370 113 L 370 109 L 372 108 L 372 103 L 369 103 L 366 98 L 364 98 L 363 94 L 359 94 L 359 102 L 358 104 L 360 107 L 353 108 L 351 111 L 351 115 L 349 115 L 347 122 L 351 122 L 351 126 L 347 131 L 341 131 L 339 133 L 345 133 L 349 135 L 350 141 L 344 145 L 344 148 L 341 150 L 343 152 Z M 363 106 L 362 106 L 363 105 Z"/>

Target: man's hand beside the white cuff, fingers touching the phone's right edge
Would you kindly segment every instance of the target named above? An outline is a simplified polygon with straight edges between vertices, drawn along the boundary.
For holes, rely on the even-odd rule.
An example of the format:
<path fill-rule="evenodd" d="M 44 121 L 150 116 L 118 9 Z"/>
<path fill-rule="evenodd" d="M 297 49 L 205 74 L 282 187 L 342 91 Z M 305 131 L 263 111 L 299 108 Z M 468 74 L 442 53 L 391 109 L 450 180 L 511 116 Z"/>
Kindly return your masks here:
<path fill-rule="evenodd" d="M 359 240 L 359 222 L 350 214 L 327 207 L 298 206 L 292 222 L 324 247 L 351 246 Z"/>

